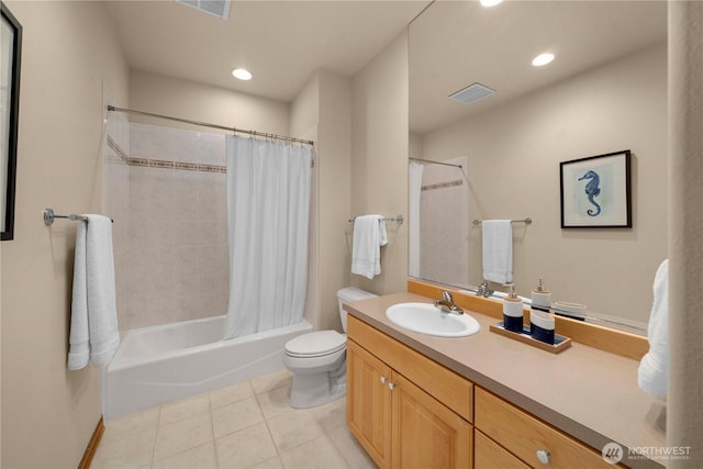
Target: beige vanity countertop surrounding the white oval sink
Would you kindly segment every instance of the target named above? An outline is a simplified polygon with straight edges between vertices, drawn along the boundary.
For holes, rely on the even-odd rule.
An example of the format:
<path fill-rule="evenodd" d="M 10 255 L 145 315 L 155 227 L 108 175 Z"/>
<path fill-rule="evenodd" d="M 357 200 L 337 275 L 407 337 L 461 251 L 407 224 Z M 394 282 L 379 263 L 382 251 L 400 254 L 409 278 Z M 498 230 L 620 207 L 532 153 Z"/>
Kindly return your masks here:
<path fill-rule="evenodd" d="M 349 315 L 596 451 L 611 442 L 624 448 L 666 446 L 666 404 L 637 387 L 637 360 L 576 340 L 561 354 L 548 354 L 491 333 L 489 327 L 498 320 L 477 311 L 467 312 L 479 322 L 481 331 L 460 338 L 412 333 L 386 317 L 386 309 L 392 304 L 431 301 L 403 292 L 345 308 Z M 661 461 L 628 459 L 627 454 L 623 462 L 662 467 Z"/>

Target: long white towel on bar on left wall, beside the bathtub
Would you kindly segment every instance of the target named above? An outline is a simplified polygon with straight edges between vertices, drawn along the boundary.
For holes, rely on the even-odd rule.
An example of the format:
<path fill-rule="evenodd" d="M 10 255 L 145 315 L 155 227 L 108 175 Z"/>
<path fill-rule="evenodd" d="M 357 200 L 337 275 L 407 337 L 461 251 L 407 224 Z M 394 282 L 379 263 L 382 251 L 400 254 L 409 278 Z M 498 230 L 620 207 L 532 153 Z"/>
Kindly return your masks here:
<path fill-rule="evenodd" d="M 118 309 L 112 257 L 112 222 L 102 215 L 86 215 L 78 224 L 71 301 L 68 369 L 92 361 L 110 362 L 118 346 Z"/>

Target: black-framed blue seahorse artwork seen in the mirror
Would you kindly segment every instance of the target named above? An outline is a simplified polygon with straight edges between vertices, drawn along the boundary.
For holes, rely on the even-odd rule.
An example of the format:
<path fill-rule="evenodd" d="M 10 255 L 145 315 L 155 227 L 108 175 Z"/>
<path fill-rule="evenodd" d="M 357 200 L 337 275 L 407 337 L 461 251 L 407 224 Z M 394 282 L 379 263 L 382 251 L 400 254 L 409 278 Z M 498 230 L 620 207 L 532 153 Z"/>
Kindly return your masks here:
<path fill-rule="evenodd" d="M 559 163 L 562 228 L 632 228 L 631 150 Z"/>

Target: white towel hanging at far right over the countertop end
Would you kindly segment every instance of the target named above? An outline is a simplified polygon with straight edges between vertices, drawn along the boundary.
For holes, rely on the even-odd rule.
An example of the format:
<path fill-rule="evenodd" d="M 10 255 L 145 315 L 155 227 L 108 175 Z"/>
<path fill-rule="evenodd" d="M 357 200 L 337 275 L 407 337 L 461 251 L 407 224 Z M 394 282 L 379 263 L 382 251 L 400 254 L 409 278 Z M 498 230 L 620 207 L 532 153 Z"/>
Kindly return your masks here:
<path fill-rule="evenodd" d="M 654 301 L 647 336 L 649 353 L 639 362 L 639 389 L 654 398 L 667 395 L 669 384 L 669 260 L 665 259 L 655 276 Z"/>

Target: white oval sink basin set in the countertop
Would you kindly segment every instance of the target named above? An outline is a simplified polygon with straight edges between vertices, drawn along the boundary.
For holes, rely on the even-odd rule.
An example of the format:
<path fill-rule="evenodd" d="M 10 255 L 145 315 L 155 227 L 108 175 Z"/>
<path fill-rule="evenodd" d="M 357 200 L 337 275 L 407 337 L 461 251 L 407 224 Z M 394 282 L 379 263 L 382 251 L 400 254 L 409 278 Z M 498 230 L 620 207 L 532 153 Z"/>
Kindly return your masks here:
<path fill-rule="evenodd" d="M 481 326 L 468 314 L 444 313 L 427 303 L 399 303 L 386 310 L 393 324 L 421 334 L 439 337 L 465 337 L 476 334 Z"/>

